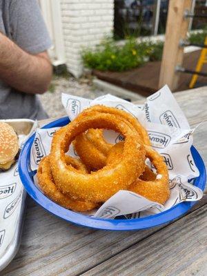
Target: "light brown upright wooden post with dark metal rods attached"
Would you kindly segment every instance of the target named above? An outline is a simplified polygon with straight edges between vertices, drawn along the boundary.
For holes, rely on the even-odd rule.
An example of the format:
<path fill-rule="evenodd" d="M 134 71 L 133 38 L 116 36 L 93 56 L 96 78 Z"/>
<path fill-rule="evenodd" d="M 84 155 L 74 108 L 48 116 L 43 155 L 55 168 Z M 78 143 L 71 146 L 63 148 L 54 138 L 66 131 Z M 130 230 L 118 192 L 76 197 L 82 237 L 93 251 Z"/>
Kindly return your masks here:
<path fill-rule="evenodd" d="M 184 18 L 185 10 L 190 10 L 192 0 L 170 0 L 166 25 L 164 52 L 161 60 L 159 88 L 168 84 L 173 91 L 179 81 L 177 65 L 181 66 L 184 58 L 184 48 L 179 47 L 180 39 L 186 39 L 189 19 Z"/>

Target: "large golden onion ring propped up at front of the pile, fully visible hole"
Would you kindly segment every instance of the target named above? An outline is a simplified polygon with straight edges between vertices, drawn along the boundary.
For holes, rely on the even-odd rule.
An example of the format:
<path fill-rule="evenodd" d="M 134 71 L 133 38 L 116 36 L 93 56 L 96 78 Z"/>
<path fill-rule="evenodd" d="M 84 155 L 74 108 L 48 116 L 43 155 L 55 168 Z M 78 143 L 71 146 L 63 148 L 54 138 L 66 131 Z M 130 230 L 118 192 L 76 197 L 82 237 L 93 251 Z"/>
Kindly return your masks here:
<path fill-rule="evenodd" d="M 64 154 L 77 135 L 89 128 L 115 130 L 125 137 L 123 158 L 119 164 L 106 165 L 97 172 L 86 175 L 66 166 Z M 68 126 L 58 130 L 53 139 L 50 153 L 52 176 L 62 193 L 73 199 L 106 201 L 121 189 L 126 189 L 144 170 L 145 149 L 134 128 L 119 116 L 87 110 Z M 139 160 L 139 161 L 137 161 Z"/>

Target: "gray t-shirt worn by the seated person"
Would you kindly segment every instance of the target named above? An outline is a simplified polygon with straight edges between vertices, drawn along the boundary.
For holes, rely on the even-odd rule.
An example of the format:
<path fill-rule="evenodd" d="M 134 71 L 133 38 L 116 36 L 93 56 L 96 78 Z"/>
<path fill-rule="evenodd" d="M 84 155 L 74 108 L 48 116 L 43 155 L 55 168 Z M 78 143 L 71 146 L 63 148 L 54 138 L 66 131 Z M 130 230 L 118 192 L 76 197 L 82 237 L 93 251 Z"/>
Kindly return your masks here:
<path fill-rule="evenodd" d="M 0 32 L 30 54 L 51 46 L 37 0 L 0 0 Z M 0 76 L 0 119 L 47 117 L 36 95 L 11 88 Z"/>

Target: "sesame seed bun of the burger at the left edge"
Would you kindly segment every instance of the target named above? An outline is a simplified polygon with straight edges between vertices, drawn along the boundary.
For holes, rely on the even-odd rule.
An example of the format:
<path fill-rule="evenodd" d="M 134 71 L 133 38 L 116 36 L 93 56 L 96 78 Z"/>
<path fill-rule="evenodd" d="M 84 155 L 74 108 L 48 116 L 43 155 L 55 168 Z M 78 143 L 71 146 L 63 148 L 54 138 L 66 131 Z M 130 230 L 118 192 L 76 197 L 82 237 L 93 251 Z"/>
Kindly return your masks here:
<path fill-rule="evenodd" d="M 0 121 L 0 169 L 8 170 L 19 151 L 16 132 L 9 124 Z"/>

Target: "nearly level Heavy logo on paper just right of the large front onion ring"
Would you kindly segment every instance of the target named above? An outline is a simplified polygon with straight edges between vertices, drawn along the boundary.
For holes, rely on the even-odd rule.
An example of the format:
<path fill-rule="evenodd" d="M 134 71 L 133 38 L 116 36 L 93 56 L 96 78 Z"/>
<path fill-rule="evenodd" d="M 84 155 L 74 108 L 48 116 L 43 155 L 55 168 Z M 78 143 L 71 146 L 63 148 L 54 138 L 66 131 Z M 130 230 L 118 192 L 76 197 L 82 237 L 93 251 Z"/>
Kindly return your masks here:
<path fill-rule="evenodd" d="M 166 148 L 171 140 L 169 135 L 157 131 L 148 131 L 148 136 L 155 148 Z"/>

